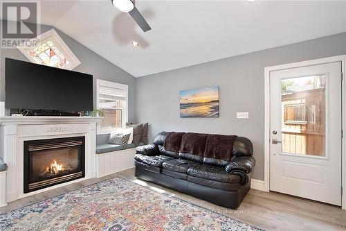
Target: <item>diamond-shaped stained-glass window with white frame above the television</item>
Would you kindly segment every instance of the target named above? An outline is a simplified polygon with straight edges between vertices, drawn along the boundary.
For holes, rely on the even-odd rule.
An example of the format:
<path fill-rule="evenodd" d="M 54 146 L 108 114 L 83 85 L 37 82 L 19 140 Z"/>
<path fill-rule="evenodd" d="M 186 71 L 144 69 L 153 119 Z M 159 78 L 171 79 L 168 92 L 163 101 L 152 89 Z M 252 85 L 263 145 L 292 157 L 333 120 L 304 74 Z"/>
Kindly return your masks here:
<path fill-rule="evenodd" d="M 35 47 L 17 46 L 31 62 L 69 70 L 80 65 L 80 60 L 54 29 L 37 38 L 39 42 Z"/>

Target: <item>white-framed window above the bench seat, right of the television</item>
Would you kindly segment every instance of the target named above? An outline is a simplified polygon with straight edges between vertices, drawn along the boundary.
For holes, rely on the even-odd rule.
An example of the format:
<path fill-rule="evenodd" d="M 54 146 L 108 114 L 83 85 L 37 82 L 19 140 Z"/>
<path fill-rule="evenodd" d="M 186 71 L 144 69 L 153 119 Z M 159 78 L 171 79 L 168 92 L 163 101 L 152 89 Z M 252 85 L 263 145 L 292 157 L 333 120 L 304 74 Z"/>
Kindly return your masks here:
<path fill-rule="evenodd" d="M 96 80 L 97 108 L 104 113 L 98 133 L 109 133 L 123 128 L 127 122 L 128 86 L 105 80 Z"/>

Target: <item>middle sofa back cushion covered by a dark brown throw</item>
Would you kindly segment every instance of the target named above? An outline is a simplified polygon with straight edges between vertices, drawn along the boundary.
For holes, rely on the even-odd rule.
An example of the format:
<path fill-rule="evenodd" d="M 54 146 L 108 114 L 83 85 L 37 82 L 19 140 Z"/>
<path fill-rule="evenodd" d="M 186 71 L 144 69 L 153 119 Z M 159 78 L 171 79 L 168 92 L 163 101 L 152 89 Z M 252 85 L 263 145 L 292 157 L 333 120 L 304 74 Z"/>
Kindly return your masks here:
<path fill-rule="evenodd" d="M 201 133 L 185 133 L 181 139 L 179 158 L 202 163 L 207 136 Z"/>

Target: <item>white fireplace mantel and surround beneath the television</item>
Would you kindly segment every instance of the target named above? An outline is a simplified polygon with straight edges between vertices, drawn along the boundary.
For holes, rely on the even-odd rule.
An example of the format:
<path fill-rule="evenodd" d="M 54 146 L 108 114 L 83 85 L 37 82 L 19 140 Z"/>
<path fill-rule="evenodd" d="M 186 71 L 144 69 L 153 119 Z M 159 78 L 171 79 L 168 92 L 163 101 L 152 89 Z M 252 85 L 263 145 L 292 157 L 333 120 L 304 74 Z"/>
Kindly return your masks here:
<path fill-rule="evenodd" d="M 102 117 L 0 117 L 0 157 L 8 165 L 6 201 L 96 176 L 96 125 Z M 24 194 L 24 141 L 85 137 L 85 178 Z M 0 185 L 1 187 L 1 185 Z"/>

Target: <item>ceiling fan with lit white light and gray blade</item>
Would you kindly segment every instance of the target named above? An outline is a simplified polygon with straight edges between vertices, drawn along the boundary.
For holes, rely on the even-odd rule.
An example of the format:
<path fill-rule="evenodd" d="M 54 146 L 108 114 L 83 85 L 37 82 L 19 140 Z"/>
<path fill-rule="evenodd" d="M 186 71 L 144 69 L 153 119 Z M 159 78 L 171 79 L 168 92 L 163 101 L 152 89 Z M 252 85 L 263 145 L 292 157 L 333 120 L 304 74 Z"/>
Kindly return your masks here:
<path fill-rule="evenodd" d="M 134 1 L 135 0 L 111 0 L 111 3 L 121 12 L 128 12 L 144 32 L 151 30 L 152 28 L 150 28 L 147 21 L 145 21 L 144 17 L 138 11 Z"/>

